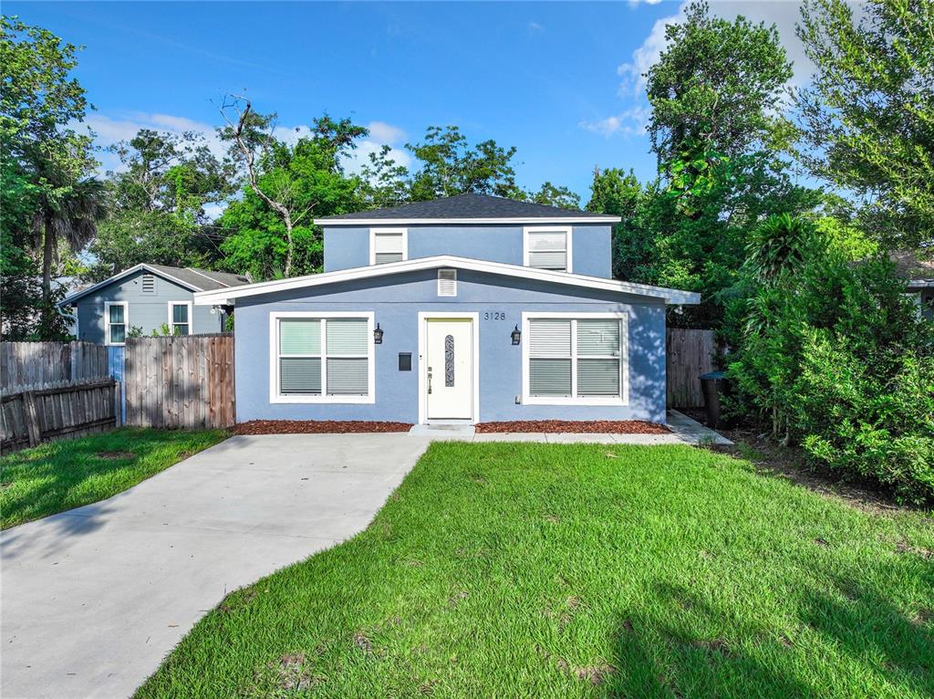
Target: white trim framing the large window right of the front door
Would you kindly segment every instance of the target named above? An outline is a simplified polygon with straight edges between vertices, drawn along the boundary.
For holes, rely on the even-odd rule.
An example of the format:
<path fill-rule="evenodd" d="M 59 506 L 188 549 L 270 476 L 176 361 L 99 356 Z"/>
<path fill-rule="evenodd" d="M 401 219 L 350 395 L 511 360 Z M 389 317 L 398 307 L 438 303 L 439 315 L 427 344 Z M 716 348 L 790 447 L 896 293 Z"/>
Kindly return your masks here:
<path fill-rule="evenodd" d="M 619 396 L 588 395 L 576 398 L 577 371 L 574 367 L 575 359 L 571 361 L 571 396 L 540 396 L 530 395 L 529 390 L 529 360 L 530 339 L 529 321 L 536 318 L 554 318 L 569 321 L 587 321 L 590 319 L 618 319 L 619 327 L 619 380 L 622 384 Z M 571 331 L 571 356 L 577 355 L 577 333 L 575 325 Z M 628 406 L 630 405 L 630 319 L 625 311 L 610 313 L 548 313 L 529 312 L 522 314 L 522 403 L 527 406 Z"/>

